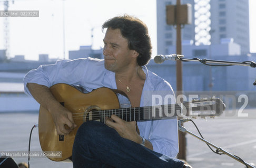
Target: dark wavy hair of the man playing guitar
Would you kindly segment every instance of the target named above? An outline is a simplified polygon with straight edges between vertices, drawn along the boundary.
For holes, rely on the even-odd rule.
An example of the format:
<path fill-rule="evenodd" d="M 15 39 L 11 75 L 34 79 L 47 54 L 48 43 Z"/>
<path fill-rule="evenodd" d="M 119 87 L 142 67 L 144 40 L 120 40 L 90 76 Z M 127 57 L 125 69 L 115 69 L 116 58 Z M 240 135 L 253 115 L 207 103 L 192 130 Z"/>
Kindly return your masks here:
<path fill-rule="evenodd" d="M 147 26 L 140 19 L 130 16 L 117 16 L 107 20 L 102 25 L 104 28 L 120 29 L 122 36 L 128 40 L 128 47 L 137 51 L 137 64 L 146 65 L 151 58 L 151 40 Z"/>

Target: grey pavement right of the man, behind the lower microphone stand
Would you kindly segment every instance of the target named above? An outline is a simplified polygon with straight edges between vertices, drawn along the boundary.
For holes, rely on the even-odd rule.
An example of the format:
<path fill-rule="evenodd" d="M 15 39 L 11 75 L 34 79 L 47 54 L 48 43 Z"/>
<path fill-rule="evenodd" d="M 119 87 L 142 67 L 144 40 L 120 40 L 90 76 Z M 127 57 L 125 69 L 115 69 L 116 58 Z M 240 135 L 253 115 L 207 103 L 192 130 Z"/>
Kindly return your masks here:
<path fill-rule="evenodd" d="M 244 110 L 255 115 L 255 109 Z M 252 115 L 251 115 L 252 116 Z M 193 120 L 205 140 L 239 156 L 247 163 L 256 164 L 256 119 L 199 119 Z M 199 135 L 192 122 L 184 123 L 190 132 Z M 208 146 L 186 134 L 186 160 L 193 167 L 245 167 L 227 155 L 213 153 Z M 213 148 L 214 149 L 214 148 Z M 215 151 L 215 149 L 214 149 Z"/>

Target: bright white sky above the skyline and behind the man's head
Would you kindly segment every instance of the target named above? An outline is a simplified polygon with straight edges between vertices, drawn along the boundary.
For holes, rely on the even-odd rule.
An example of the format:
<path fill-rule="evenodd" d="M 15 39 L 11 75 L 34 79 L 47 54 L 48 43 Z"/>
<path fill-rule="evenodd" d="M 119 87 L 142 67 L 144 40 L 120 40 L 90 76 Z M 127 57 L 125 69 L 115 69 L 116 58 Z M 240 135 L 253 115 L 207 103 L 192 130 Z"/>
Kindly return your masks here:
<path fill-rule="evenodd" d="M 256 0 L 249 0 L 249 6 L 250 47 L 251 53 L 256 53 Z M 25 55 L 25 59 L 37 60 L 39 54 L 48 54 L 50 58 L 64 58 L 65 46 L 65 58 L 68 58 L 68 50 L 78 50 L 80 46 L 100 48 L 104 38 L 101 25 L 123 14 L 136 16 L 146 23 L 152 40 L 152 56 L 161 54 L 156 52 L 156 0 L 16 0 L 9 4 L 9 10 L 39 10 L 40 15 L 9 18 L 10 57 Z M 0 24 L 3 22 L 4 18 L 0 17 Z M 3 32 L 0 26 L 0 49 L 4 48 Z"/>

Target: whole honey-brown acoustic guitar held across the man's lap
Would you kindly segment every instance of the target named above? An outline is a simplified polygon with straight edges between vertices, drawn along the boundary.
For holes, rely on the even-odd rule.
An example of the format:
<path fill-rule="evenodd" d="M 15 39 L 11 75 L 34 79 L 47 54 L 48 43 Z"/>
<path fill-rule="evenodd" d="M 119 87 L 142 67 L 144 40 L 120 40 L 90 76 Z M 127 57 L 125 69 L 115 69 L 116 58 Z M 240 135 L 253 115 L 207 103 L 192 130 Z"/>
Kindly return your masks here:
<path fill-rule="evenodd" d="M 50 90 L 56 100 L 72 112 L 78 127 L 90 120 L 105 123 L 105 117 L 112 114 L 125 121 L 145 121 L 168 119 L 180 116 L 181 112 L 183 116 L 190 117 L 219 116 L 225 109 L 220 99 L 131 108 L 129 99 L 119 90 L 102 87 L 87 92 L 80 87 L 64 83 L 58 83 L 50 87 Z M 50 112 L 41 106 L 38 119 L 40 145 L 44 152 L 54 151 L 56 154 L 49 154 L 47 158 L 53 161 L 70 161 L 78 127 L 70 134 L 58 135 Z M 58 155 L 57 151 L 62 155 Z"/>

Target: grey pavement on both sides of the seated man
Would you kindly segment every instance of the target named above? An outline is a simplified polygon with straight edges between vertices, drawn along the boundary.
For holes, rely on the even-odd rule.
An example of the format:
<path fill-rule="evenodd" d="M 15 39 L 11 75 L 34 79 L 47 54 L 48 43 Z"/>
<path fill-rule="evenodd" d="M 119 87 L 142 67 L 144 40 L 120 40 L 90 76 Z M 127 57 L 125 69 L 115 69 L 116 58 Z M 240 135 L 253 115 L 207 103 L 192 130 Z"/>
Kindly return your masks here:
<path fill-rule="evenodd" d="M 256 109 L 245 110 L 256 113 Z M 256 119 L 194 119 L 203 137 L 222 149 L 240 156 L 245 162 L 256 164 Z M 37 112 L 0 113 L 0 151 L 27 151 L 29 133 L 38 122 Z M 191 122 L 184 127 L 198 135 Z M 204 142 L 186 134 L 186 160 L 193 167 L 245 167 L 227 155 L 214 154 Z M 42 151 L 38 129 L 32 134 L 31 151 Z M 27 162 L 27 158 L 14 158 Z M 73 167 L 72 163 L 54 162 L 48 158 L 31 158 L 31 167 Z"/>

